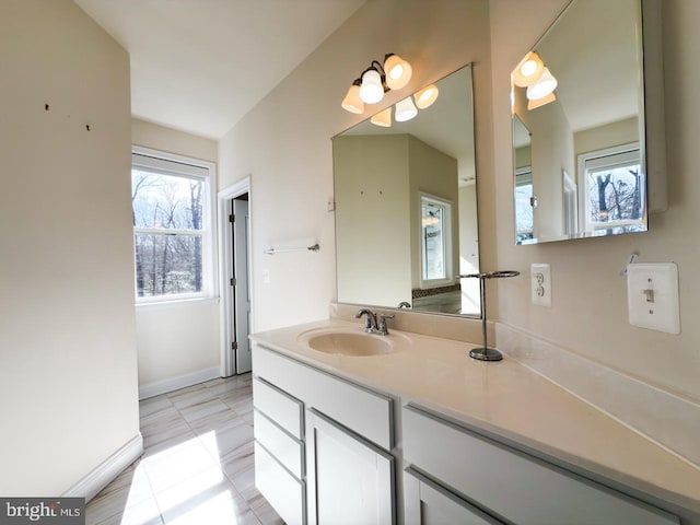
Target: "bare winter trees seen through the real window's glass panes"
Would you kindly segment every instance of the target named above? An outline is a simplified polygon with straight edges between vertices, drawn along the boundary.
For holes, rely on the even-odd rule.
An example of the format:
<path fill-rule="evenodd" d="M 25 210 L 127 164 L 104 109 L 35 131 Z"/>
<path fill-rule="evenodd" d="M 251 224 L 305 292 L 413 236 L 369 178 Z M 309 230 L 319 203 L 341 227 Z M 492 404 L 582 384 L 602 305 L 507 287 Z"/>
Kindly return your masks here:
<path fill-rule="evenodd" d="M 202 291 L 205 184 L 198 178 L 132 170 L 138 296 Z"/>

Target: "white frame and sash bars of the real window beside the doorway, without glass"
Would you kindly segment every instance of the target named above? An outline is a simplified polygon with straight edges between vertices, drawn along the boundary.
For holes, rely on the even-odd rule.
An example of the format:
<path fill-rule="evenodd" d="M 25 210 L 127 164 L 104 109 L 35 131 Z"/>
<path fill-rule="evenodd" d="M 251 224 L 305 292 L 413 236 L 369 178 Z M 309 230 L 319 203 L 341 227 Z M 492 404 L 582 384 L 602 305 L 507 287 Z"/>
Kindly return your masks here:
<path fill-rule="evenodd" d="M 215 164 L 190 156 L 170 153 L 140 145 L 131 147 L 131 172 L 144 168 L 155 174 L 178 176 L 203 182 L 202 188 L 202 224 L 201 230 L 163 230 L 133 226 L 133 291 L 137 306 L 163 305 L 214 299 L 218 291 L 218 273 L 215 258 L 215 221 L 217 202 L 214 188 L 217 184 Z M 136 235 L 199 235 L 201 237 L 201 291 L 165 295 L 139 296 L 136 282 Z"/>

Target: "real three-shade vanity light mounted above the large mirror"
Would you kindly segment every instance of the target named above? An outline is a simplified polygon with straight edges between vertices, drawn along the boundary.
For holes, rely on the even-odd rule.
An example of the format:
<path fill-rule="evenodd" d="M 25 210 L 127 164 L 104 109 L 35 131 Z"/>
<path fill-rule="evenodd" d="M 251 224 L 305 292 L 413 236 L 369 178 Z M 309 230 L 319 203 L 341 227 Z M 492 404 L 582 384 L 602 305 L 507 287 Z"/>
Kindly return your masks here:
<path fill-rule="evenodd" d="M 372 60 L 359 79 L 352 82 L 340 104 L 343 109 L 358 115 L 364 113 L 364 104 L 376 104 L 389 90 L 400 90 L 411 80 L 412 68 L 398 55 L 389 52 L 384 65 Z"/>

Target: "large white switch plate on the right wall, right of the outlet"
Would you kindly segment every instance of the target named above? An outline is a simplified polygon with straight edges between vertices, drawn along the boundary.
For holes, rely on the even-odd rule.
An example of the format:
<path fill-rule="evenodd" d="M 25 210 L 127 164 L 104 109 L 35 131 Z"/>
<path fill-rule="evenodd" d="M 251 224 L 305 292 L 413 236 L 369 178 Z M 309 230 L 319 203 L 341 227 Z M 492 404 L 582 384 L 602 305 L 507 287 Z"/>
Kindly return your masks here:
<path fill-rule="evenodd" d="M 627 304 L 630 325 L 680 334 L 678 267 L 674 262 L 629 265 Z"/>

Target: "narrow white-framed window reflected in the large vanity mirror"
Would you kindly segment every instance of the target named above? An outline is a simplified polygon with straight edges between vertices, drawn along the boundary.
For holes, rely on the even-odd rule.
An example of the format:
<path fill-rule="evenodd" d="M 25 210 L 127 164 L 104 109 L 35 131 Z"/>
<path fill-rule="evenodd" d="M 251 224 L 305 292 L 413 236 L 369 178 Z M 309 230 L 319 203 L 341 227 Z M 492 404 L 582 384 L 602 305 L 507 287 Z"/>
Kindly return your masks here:
<path fill-rule="evenodd" d="M 445 200 L 421 195 L 421 284 L 442 285 L 451 279 L 452 205 Z"/>

